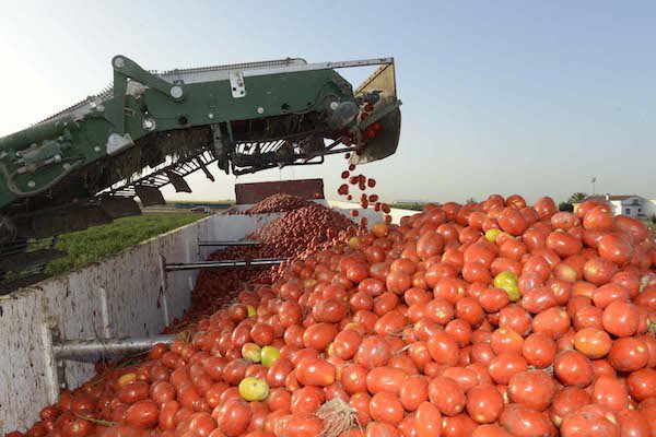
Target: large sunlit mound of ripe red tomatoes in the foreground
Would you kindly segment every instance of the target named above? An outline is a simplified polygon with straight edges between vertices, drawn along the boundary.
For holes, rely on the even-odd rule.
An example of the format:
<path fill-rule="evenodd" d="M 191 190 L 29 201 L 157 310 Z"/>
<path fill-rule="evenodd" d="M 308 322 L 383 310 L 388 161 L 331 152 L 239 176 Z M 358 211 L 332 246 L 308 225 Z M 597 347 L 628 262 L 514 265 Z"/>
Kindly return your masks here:
<path fill-rule="evenodd" d="M 27 435 L 315 437 L 340 402 L 340 437 L 654 436 L 655 261 L 604 203 L 427 205 L 301 253 Z"/>

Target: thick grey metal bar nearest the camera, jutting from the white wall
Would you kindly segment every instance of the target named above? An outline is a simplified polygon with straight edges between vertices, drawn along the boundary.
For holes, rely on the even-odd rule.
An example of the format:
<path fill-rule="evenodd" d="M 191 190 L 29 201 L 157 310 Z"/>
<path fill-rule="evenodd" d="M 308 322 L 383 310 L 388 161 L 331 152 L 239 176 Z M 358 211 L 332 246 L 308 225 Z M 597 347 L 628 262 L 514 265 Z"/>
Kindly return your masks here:
<path fill-rule="evenodd" d="M 95 355 L 128 354 L 148 351 L 157 343 L 171 343 L 175 335 L 134 336 L 128 339 L 65 340 L 52 344 L 57 359 L 81 359 Z"/>

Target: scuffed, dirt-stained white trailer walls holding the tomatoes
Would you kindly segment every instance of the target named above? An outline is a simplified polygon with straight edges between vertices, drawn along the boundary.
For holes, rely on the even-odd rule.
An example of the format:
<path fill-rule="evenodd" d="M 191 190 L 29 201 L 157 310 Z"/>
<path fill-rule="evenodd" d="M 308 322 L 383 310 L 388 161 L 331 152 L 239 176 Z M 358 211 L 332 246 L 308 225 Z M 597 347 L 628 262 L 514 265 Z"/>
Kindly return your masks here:
<path fill-rule="evenodd" d="M 370 223 L 383 218 L 354 203 L 317 203 L 348 217 L 359 209 Z M 412 213 L 393 209 L 390 215 L 398 223 Z M 166 340 L 159 334 L 189 307 L 208 256 L 219 246 L 253 244 L 248 236 L 281 215 L 210 215 L 102 262 L 0 296 L 0 433 L 24 430 L 61 389 L 89 380 L 101 354 L 120 356 Z"/>

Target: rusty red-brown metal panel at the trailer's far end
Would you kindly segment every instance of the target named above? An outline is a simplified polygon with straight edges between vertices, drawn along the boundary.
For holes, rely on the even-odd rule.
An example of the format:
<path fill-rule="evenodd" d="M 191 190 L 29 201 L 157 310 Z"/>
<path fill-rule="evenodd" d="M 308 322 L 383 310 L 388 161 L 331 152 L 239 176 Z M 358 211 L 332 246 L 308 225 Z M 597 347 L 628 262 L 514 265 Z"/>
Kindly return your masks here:
<path fill-rule="evenodd" d="M 271 182 L 235 184 L 237 204 L 257 203 L 272 194 L 293 194 L 303 199 L 324 199 L 323 179 L 296 179 Z"/>

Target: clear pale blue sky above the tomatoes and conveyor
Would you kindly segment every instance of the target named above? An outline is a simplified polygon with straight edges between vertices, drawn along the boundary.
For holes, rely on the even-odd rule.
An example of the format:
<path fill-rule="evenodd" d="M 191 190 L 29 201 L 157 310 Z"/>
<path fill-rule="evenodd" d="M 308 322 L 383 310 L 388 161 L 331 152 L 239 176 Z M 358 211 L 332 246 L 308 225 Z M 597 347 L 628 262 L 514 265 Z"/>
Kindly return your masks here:
<path fill-rule="evenodd" d="M 654 1 L 0 2 L 0 135 L 99 91 L 117 54 L 159 70 L 394 56 L 399 150 L 361 167 L 384 199 L 562 200 L 591 175 L 656 198 Z M 337 198 L 343 165 L 238 181 L 323 177 Z M 234 176 L 189 182 L 177 198 L 234 197 Z"/>

